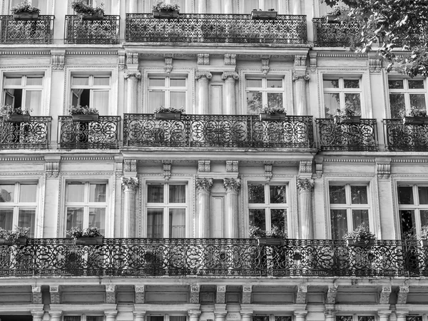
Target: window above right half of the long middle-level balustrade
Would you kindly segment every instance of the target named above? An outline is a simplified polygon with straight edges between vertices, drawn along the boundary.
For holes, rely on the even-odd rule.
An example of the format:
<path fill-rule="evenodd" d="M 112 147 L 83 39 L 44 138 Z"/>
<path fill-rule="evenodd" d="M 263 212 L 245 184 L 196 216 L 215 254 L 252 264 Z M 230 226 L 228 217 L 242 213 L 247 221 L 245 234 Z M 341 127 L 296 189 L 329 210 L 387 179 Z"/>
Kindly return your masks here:
<path fill-rule="evenodd" d="M 247 112 L 260 113 L 264 106 L 284 106 L 284 81 L 282 78 L 246 78 Z"/>

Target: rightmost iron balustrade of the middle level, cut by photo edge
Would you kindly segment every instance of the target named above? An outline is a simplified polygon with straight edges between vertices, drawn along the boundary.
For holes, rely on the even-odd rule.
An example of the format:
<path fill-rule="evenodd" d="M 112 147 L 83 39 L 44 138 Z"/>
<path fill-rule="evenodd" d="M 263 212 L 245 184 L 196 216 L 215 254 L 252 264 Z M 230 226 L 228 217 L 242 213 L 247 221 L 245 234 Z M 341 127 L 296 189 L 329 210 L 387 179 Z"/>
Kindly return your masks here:
<path fill-rule="evenodd" d="M 428 125 L 404 125 L 402 119 L 384 119 L 388 151 L 428 151 Z"/>

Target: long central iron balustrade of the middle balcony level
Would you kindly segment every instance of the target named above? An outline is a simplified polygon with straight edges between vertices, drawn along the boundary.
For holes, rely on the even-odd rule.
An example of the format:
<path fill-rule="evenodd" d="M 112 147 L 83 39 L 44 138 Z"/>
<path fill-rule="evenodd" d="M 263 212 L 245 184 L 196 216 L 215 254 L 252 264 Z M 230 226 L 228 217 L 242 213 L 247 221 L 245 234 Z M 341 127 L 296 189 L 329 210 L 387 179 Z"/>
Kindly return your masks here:
<path fill-rule="evenodd" d="M 157 120 L 153 113 L 123 116 L 123 146 L 312 148 L 312 116 L 260 121 L 258 115 L 182 115 Z"/>

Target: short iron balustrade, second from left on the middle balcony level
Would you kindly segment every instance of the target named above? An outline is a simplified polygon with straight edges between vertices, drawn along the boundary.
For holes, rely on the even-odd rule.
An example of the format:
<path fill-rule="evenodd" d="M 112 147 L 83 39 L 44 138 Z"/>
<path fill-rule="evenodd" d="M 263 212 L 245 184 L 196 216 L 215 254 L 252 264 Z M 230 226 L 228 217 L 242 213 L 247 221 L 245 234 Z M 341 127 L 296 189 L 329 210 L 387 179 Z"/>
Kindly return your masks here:
<path fill-rule="evenodd" d="M 58 117 L 60 148 L 119 148 L 121 116 L 99 116 L 98 121 L 78 122 Z"/>

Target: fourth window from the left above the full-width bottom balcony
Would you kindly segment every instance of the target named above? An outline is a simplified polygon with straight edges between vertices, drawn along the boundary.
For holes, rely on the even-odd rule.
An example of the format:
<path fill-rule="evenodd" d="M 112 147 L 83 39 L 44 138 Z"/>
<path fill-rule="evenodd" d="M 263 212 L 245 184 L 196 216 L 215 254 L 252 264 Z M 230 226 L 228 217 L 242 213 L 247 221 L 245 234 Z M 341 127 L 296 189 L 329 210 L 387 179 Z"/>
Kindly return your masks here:
<path fill-rule="evenodd" d="M 277 227 L 287 233 L 287 186 L 248 185 L 250 226 L 270 231 Z"/>

